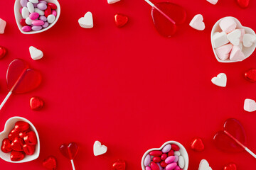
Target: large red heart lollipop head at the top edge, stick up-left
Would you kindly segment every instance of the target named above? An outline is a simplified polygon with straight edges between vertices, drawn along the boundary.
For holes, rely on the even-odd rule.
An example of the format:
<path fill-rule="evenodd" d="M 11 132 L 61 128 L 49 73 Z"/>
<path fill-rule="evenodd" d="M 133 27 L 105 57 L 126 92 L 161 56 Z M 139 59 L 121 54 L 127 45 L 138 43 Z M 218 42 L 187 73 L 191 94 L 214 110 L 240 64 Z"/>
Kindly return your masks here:
<path fill-rule="evenodd" d="M 163 11 L 176 24 L 172 23 L 156 8 L 152 8 L 151 15 L 156 30 L 165 37 L 171 37 L 176 33 L 177 26 L 186 21 L 186 11 L 183 7 L 170 2 L 159 2 L 155 4 L 156 8 Z"/>

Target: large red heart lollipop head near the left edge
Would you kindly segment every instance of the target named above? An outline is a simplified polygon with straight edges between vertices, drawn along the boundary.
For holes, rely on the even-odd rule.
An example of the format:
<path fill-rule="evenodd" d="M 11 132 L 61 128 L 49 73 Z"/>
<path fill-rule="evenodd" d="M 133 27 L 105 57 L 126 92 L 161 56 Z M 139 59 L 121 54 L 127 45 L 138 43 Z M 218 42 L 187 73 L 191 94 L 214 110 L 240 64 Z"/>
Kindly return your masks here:
<path fill-rule="evenodd" d="M 9 64 L 7 70 L 7 87 L 15 94 L 22 94 L 41 84 L 41 74 L 33 69 L 28 68 L 28 64 L 23 60 L 16 59 Z"/>

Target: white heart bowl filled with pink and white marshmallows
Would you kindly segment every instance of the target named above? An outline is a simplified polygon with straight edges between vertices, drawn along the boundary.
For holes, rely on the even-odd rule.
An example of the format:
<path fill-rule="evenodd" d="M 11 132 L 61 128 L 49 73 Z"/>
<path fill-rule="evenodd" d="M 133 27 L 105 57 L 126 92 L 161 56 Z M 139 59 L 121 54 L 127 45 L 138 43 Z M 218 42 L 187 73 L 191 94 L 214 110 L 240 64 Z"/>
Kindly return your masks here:
<path fill-rule="evenodd" d="M 218 62 L 241 62 L 250 57 L 256 47 L 255 31 L 231 16 L 215 23 L 210 39 Z"/>

